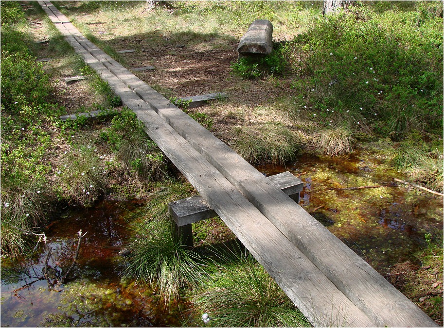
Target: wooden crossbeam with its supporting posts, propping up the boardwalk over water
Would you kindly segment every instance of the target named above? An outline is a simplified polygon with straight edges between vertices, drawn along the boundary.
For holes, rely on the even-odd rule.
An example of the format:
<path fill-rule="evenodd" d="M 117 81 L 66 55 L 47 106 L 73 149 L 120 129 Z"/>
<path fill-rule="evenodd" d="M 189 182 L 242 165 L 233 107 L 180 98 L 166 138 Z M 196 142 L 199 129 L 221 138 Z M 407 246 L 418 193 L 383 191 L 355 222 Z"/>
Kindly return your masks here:
<path fill-rule="evenodd" d="M 299 201 L 303 182 L 290 172 L 283 172 L 268 177 L 273 184 L 280 188 L 288 197 Z M 200 196 L 188 197 L 168 204 L 168 211 L 173 221 L 174 230 L 187 247 L 193 247 L 192 223 L 217 216 L 217 213 Z"/>

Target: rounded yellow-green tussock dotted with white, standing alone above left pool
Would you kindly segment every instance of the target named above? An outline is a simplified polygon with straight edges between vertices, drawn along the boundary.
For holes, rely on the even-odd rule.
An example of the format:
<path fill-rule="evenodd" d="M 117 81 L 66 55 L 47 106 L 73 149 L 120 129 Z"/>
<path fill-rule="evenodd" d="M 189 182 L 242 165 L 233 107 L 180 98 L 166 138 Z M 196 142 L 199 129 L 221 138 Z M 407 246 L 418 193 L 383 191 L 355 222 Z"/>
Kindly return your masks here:
<path fill-rule="evenodd" d="M 91 146 L 79 146 L 67 152 L 61 178 L 63 196 L 82 205 L 89 205 L 106 190 L 104 165 Z"/>

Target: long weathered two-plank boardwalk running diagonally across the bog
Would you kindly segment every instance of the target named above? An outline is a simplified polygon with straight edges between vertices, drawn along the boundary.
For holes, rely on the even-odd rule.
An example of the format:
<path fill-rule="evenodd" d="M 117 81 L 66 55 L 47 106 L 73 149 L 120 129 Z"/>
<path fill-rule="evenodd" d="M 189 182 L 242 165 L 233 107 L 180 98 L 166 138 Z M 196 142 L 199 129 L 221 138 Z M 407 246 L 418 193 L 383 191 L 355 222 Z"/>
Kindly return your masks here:
<path fill-rule="evenodd" d="M 314 326 L 437 327 L 231 148 L 92 44 L 51 2 L 38 3 Z"/>

